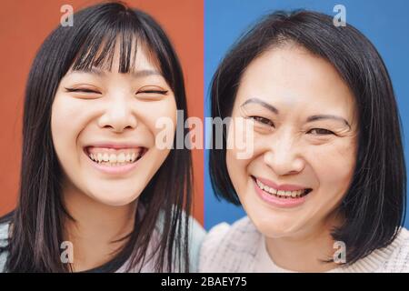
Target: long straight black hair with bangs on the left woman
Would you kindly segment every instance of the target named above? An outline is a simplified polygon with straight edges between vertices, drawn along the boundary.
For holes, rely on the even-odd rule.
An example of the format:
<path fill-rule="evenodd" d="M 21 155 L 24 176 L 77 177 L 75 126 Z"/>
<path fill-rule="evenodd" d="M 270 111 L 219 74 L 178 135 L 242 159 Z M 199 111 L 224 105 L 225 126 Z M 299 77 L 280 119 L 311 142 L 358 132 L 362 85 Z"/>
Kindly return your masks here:
<path fill-rule="evenodd" d="M 145 45 L 175 93 L 177 109 L 187 112 L 181 66 L 165 32 L 151 16 L 115 2 L 85 8 L 75 13 L 73 26 L 58 26 L 35 56 L 25 89 L 19 201 L 2 219 L 11 223 L 8 272 L 70 270 L 60 260 L 64 221 L 70 215 L 61 197 L 62 169 L 51 136 L 51 108 L 70 67 L 111 69 L 116 44 L 120 73 L 133 69 L 135 45 Z M 146 251 L 160 219 L 155 271 L 188 271 L 191 184 L 190 151 L 174 146 L 139 197 L 138 207 L 143 206 L 145 214 L 135 218 L 134 231 L 118 255 L 129 257 L 128 270 L 142 267 L 148 259 Z"/>

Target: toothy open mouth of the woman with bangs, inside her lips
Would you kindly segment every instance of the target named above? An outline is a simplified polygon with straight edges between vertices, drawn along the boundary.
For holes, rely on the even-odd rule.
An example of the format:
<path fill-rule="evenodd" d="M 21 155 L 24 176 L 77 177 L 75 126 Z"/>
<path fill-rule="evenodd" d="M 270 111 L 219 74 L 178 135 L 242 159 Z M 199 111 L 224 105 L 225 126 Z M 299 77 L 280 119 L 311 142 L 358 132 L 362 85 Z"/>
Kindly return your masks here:
<path fill-rule="evenodd" d="M 145 147 L 96 147 L 86 146 L 85 154 L 91 161 L 103 166 L 126 166 L 135 164 L 147 152 Z"/>

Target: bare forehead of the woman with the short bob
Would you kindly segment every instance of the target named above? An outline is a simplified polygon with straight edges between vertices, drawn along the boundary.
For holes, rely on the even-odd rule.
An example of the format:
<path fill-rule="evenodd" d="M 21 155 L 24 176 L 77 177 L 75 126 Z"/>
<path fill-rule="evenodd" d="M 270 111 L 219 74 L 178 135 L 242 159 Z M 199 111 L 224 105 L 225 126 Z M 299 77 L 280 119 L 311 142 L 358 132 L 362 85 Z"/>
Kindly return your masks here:
<path fill-rule="evenodd" d="M 268 50 L 248 65 L 237 99 L 254 96 L 292 108 L 354 110 L 354 96 L 334 66 L 296 45 Z"/>

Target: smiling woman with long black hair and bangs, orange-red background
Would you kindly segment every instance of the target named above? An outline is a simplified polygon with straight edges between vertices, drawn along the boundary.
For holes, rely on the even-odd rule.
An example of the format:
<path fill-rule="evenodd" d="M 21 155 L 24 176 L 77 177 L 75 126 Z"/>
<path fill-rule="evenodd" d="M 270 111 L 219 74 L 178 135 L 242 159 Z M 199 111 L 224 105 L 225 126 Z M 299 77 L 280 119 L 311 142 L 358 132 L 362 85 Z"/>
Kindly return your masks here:
<path fill-rule="evenodd" d="M 156 146 L 156 121 L 175 129 L 176 109 L 186 110 L 182 70 L 149 15 L 95 5 L 56 28 L 26 86 L 20 198 L 0 225 L 0 270 L 195 271 L 190 152 Z"/>

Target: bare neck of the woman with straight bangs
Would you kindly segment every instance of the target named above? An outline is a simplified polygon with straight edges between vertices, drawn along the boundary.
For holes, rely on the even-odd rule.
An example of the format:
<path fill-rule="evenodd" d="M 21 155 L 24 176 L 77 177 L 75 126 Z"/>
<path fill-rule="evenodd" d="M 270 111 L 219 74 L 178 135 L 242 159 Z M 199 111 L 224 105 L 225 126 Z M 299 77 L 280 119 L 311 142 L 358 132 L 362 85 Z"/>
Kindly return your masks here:
<path fill-rule="evenodd" d="M 74 246 L 75 272 L 102 266 L 115 257 L 127 240 L 117 241 L 134 229 L 137 200 L 126 206 L 107 206 L 74 186 L 65 186 L 64 237 Z"/>

